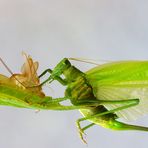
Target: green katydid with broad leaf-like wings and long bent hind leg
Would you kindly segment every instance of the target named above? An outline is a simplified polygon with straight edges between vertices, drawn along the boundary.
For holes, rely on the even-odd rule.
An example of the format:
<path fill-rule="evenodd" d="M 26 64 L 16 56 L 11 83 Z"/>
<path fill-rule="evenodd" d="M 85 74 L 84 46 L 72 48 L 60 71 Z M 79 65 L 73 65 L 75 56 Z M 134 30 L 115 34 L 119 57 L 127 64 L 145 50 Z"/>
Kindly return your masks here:
<path fill-rule="evenodd" d="M 132 120 L 148 113 L 147 61 L 113 62 L 83 73 L 65 58 L 50 73 L 48 81 L 58 80 L 67 86 L 65 98 L 69 98 L 74 106 L 86 106 L 80 108 L 84 118 L 77 120 L 84 142 L 84 130 L 95 124 L 113 130 L 148 131 L 147 127 L 117 121 L 118 118 Z M 92 123 L 81 128 L 80 122 L 84 120 Z"/>

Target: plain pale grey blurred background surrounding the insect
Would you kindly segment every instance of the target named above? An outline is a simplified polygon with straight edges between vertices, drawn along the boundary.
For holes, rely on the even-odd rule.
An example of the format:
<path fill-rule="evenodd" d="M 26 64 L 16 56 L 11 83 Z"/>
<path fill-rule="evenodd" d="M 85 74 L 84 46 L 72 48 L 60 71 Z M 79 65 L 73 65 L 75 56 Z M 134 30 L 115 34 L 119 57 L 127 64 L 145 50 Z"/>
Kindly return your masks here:
<path fill-rule="evenodd" d="M 41 73 L 64 57 L 148 59 L 148 2 L 141 0 L 0 0 L 0 57 L 20 72 L 22 51 L 39 61 Z M 94 65 L 73 62 L 81 70 Z M 10 76 L 0 64 L 0 73 Z M 48 95 L 63 96 L 54 82 Z M 146 148 L 148 133 L 115 132 L 94 126 L 88 145 L 78 137 L 78 111 L 0 107 L 1 148 Z M 148 117 L 134 122 L 148 126 Z"/>

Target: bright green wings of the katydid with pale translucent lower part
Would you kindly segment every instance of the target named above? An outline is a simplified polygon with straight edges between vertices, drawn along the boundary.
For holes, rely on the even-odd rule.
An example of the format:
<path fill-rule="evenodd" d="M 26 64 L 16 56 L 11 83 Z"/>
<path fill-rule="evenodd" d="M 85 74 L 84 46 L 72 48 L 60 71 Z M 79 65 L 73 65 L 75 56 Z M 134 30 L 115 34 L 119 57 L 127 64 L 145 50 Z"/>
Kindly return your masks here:
<path fill-rule="evenodd" d="M 118 117 L 135 120 L 148 114 L 148 61 L 103 64 L 87 71 L 86 76 L 98 99 L 140 99 L 139 105 L 116 112 Z M 119 104 L 105 105 L 108 110 L 120 106 Z"/>

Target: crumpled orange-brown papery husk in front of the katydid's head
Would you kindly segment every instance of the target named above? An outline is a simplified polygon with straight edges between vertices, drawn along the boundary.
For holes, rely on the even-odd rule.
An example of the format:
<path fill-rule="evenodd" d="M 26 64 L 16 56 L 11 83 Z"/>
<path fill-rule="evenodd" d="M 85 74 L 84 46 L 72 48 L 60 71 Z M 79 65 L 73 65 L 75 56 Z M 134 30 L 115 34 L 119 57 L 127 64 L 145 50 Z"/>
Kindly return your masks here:
<path fill-rule="evenodd" d="M 21 67 L 21 74 L 13 74 L 10 77 L 10 80 L 15 83 L 17 86 L 28 89 L 32 93 L 37 94 L 40 97 L 44 97 L 44 93 L 42 92 L 42 88 L 40 85 L 40 81 L 37 75 L 37 70 L 39 67 L 38 62 L 34 62 L 30 56 L 27 56 L 23 53 L 26 61 Z"/>

